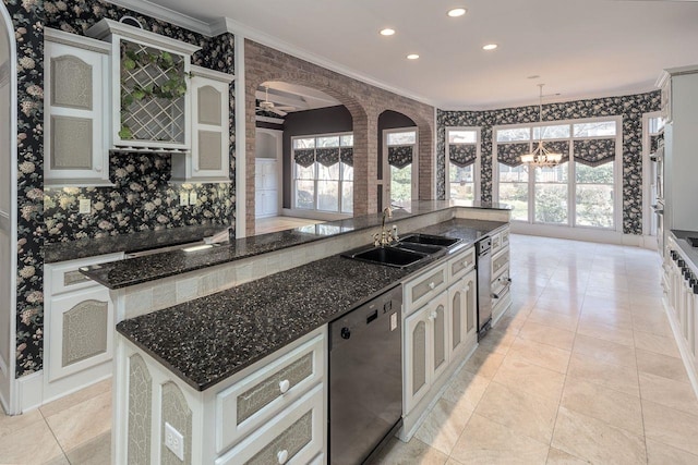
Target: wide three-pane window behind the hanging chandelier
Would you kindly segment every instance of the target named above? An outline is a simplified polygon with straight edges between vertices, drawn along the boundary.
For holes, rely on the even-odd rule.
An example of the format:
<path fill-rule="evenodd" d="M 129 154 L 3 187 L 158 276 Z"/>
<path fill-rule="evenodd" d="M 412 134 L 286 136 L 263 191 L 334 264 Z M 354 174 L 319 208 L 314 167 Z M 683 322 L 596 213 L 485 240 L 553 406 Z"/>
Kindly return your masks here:
<path fill-rule="evenodd" d="M 495 127 L 498 201 L 512 205 L 512 219 L 538 224 L 614 229 L 622 139 L 621 119 Z M 520 156 L 540 139 L 562 152 L 556 167 L 521 164 Z"/>

